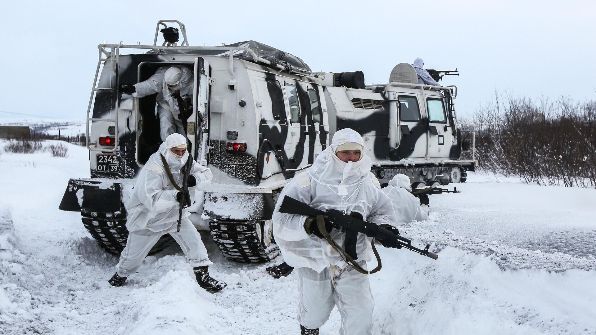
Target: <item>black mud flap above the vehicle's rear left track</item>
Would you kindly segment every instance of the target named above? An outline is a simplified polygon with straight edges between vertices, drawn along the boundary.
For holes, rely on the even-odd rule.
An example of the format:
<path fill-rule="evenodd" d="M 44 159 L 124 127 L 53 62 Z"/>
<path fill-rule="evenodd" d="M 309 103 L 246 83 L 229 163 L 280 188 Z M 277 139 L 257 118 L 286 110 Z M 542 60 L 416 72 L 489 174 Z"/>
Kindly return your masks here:
<path fill-rule="evenodd" d="M 70 212 L 120 212 L 120 183 L 93 179 L 70 179 L 58 209 Z"/>

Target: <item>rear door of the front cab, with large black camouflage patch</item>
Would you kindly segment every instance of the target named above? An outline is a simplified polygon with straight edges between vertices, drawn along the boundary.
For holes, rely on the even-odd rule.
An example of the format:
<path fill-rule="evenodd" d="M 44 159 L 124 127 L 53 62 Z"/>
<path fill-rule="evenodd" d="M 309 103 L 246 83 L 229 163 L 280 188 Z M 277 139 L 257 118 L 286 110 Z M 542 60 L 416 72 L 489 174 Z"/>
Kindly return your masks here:
<path fill-rule="evenodd" d="M 421 114 L 420 101 L 415 94 L 399 93 L 397 97 L 399 129 L 399 157 L 423 158 L 427 150 L 427 120 Z"/>

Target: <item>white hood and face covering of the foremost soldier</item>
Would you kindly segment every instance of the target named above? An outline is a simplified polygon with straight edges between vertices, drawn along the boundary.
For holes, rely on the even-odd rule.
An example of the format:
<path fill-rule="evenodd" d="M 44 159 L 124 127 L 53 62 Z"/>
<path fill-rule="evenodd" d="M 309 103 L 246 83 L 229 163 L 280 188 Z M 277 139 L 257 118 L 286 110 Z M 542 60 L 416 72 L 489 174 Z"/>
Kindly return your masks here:
<path fill-rule="evenodd" d="M 335 154 L 337 148 L 343 144 L 349 144 L 347 147 L 359 145 L 358 149 L 343 149 L 361 150 L 358 162 L 345 163 L 337 158 Z M 311 180 L 330 188 L 331 194 L 340 196 L 344 204 L 350 207 L 350 197 L 357 193 L 373 165 L 364 148 L 364 140 L 356 131 L 350 128 L 337 131 L 333 135 L 331 145 L 316 157 L 312 167 L 308 169 Z"/>

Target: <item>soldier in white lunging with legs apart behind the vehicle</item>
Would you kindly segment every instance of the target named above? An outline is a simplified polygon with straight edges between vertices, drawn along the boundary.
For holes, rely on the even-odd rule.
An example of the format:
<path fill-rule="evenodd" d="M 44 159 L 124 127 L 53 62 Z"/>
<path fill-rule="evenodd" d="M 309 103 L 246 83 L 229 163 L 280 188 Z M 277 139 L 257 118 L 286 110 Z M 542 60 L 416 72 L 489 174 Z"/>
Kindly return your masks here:
<path fill-rule="evenodd" d="M 180 231 L 176 231 L 182 197 L 187 197 L 187 203 L 192 203 L 190 193 L 184 194 L 178 186 L 182 184 L 182 168 L 190 159 L 186 148 L 184 135 L 169 135 L 136 177 L 135 188 L 126 201 L 128 240 L 116 265 L 116 274 L 108 281 L 111 286 L 122 286 L 126 277 L 141 266 L 147 253 L 164 234 L 170 234 L 178 242 L 203 289 L 215 293 L 226 286 L 223 281 L 210 277 L 208 266 L 213 263 L 207 256 L 200 234 L 188 219 L 190 213 L 187 209 L 182 213 Z M 204 190 L 211 179 L 211 171 L 193 161 L 188 186 Z"/>

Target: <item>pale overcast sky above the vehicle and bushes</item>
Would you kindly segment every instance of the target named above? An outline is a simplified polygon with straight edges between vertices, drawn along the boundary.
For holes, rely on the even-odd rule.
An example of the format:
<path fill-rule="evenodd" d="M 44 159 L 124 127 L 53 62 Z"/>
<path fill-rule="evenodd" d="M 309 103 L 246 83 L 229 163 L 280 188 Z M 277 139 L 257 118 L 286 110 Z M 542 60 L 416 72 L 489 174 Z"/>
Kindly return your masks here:
<path fill-rule="evenodd" d="M 367 84 L 415 57 L 457 68 L 442 83 L 458 86 L 460 116 L 495 91 L 596 100 L 596 1 L 10 1 L 0 18 L 0 111 L 13 113 L 84 119 L 97 45 L 152 44 L 160 19 L 185 23 L 191 45 L 252 39 Z"/>

